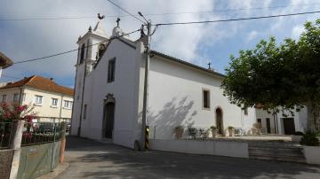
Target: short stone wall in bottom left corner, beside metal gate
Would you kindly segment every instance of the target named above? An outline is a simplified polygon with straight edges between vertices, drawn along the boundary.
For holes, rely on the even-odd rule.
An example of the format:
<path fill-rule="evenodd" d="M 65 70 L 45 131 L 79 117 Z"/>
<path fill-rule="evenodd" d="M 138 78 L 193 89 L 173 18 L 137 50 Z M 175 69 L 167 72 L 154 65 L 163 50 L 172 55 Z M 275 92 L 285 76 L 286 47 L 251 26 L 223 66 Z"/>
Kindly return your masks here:
<path fill-rule="evenodd" d="M 0 150 L 0 178 L 9 178 L 12 167 L 13 150 Z"/>

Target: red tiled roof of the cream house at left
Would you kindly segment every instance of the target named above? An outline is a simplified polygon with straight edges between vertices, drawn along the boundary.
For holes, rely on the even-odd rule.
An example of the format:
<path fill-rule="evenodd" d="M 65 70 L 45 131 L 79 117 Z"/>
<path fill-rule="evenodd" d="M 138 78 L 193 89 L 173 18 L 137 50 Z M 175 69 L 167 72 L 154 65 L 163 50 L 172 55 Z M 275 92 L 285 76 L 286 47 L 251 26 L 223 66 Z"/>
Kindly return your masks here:
<path fill-rule="evenodd" d="M 73 89 L 61 86 L 50 79 L 44 78 L 42 76 L 36 76 L 36 75 L 30 76 L 28 78 L 24 78 L 18 82 L 9 82 L 4 87 L 1 87 L 0 90 L 12 89 L 12 88 L 22 87 L 22 86 L 31 87 L 38 90 L 56 92 L 56 93 L 65 94 L 72 97 L 74 95 Z"/>

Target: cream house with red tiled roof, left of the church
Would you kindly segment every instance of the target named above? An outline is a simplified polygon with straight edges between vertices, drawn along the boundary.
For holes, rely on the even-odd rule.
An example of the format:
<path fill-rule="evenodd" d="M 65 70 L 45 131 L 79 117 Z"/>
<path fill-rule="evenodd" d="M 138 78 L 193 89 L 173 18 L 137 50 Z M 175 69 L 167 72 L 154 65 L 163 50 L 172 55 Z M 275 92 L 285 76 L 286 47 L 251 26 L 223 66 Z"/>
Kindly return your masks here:
<path fill-rule="evenodd" d="M 48 118 L 71 118 L 73 96 L 73 89 L 37 75 L 0 88 L 0 102 L 33 105 L 37 116 Z"/>

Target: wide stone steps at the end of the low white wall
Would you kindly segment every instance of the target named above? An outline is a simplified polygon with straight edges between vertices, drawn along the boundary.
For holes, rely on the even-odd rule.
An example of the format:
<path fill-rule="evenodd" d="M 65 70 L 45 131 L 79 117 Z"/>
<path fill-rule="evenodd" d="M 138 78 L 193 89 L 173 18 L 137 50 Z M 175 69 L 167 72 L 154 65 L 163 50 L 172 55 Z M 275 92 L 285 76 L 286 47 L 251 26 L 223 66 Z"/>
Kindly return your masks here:
<path fill-rule="evenodd" d="M 306 163 L 302 147 L 284 144 L 249 144 L 249 159 Z"/>

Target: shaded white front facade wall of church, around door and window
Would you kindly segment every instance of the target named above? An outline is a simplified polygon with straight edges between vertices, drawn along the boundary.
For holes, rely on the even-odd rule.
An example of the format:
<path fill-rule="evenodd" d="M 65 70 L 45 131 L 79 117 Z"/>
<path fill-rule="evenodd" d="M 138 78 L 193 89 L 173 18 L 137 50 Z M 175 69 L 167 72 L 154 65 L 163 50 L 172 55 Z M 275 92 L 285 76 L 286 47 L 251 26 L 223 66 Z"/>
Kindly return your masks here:
<path fill-rule="evenodd" d="M 108 83 L 108 60 L 116 57 L 115 82 Z M 103 99 L 108 93 L 116 98 L 114 138 L 115 144 L 133 147 L 132 135 L 137 121 L 138 79 L 136 50 L 114 40 L 100 59 L 99 65 L 88 75 L 85 82 L 84 104 L 87 105 L 87 119 L 83 121 L 81 136 L 103 139 Z M 140 59 L 140 57 L 139 57 Z"/>

